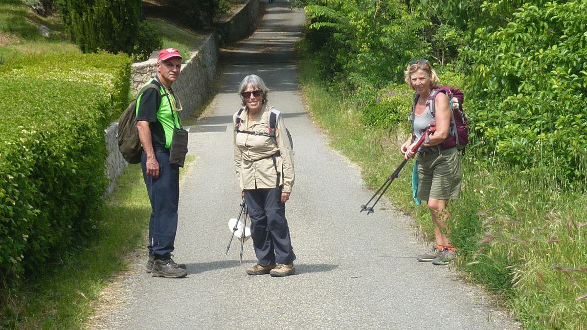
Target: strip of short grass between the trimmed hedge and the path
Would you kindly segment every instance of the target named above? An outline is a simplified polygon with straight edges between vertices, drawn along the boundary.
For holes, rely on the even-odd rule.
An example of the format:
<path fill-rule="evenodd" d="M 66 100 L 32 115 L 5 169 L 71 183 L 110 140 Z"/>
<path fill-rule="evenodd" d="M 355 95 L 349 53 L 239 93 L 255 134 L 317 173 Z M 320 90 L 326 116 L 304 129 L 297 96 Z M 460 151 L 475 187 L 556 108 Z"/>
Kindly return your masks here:
<path fill-rule="evenodd" d="M 195 157 L 188 156 L 183 177 Z M 107 281 L 128 268 L 124 255 L 144 243 L 151 212 L 140 165 L 130 165 L 106 198 L 97 235 L 87 247 L 55 255 L 0 309 L 0 328 L 78 329 L 87 325 Z"/>

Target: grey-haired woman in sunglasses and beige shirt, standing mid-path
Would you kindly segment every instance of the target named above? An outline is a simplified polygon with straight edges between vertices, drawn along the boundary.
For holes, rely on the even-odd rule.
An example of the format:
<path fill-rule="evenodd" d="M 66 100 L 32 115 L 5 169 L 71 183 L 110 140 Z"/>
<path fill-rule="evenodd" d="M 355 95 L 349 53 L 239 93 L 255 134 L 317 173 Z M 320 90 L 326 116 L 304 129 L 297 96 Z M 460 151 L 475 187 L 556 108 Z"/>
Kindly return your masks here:
<path fill-rule="evenodd" d="M 232 117 L 234 162 L 258 259 L 247 268 L 247 274 L 288 276 L 295 272 L 296 258 L 285 218 L 285 202 L 294 185 L 292 146 L 284 119 L 267 105 L 268 89 L 263 80 L 257 75 L 246 76 L 238 92 L 244 107 Z M 270 120 L 276 123 L 274 134 Z"/>

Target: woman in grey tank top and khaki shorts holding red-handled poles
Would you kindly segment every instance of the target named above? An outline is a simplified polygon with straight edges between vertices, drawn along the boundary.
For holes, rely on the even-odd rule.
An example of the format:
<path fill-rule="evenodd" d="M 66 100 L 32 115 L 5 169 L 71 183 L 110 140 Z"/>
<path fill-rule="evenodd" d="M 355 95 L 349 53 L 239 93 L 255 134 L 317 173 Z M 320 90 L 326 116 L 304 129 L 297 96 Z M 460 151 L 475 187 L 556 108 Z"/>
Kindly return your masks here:
<path fill-rule="evenodd" d="M 432 261 L 434 265 L 446 265 L 454 259 L 454 247 L 446 236 L 449 228 L 446 221 L 450 213 L 446 208 L 448 200 L 457 198 L 461 193 L 461 159 L 455 146 L 445 147 L 443 143 L 449 136 L 451 109 L 448 97 L 437 92 L 434 99 L 434 113 L 430 110 L 427 99 L 438 85 L 438 76 L 428 60 L 410 62 L 404 72 L 406 83 L 416 90 L 412 127 L 413 133 L 402 144 L 401 151 L 406 157 L 414 157 L 411 148 L 420 139 L 426 127 L 436 122 L 436 132 L 430 136 L 429 143 L 423 143 L 418 149 L 417 198 L 427 200 L 434 223 L 436 244 L 429 252 L 417 257 L 419 261 Z"/>

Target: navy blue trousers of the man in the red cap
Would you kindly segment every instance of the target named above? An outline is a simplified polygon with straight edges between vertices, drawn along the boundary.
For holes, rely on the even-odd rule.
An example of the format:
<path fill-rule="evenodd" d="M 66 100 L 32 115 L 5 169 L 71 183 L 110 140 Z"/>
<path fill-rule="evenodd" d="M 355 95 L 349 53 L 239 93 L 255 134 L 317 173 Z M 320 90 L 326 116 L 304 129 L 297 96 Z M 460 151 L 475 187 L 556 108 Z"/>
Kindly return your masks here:
<path fill-rule="evenodd" d="M 149 201 L 151 219 L 149 221 L 149 252 L 156 257 L 170 254 L 174 247 L 177 232 L 177 206 L 180 199 L 180 169 L 169 163 L 169 154 L 155 152 L 159 163 L 159 177 L 147 176 L 147 154 L 141 157 L 143 178 Z"/>

